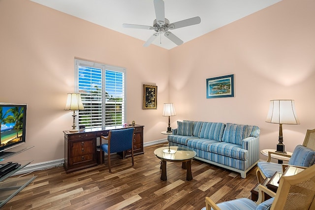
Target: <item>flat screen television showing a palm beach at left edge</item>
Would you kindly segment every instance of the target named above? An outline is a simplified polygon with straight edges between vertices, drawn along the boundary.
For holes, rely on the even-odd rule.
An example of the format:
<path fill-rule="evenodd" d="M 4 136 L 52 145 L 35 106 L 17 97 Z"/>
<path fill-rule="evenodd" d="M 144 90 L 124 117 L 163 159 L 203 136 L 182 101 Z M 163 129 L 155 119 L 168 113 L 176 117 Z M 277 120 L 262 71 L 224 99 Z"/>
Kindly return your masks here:
<path fill-rule="evenodd" d="M 9 155 L 6 151 L 26 140 L 27 104 L 0 102 L 0 158 Z"/>

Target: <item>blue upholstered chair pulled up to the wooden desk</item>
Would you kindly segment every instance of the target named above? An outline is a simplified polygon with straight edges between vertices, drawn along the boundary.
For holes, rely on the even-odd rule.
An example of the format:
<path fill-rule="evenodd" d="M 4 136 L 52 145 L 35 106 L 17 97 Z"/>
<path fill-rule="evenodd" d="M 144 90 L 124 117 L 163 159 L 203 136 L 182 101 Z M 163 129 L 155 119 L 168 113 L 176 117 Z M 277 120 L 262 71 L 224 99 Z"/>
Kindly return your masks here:
<path fill-rule="evenodd" d="M 111 171 L 111 162 L 110 154 L 115 152 L 124 152 L 126 150 L 131 150 L 131 161 L 133 161 L 133 135 L 134 128 L 126 128 L 121 130 L 111 130 L 108 133 L 108 136 L 101 136 L 99 138 L 100 144 L 100 163 L 103 161 L 102 151 L 105 151 L 108 154 L 108 171 Z M 108 143 L 102 144 L 102 140 L 107 140 Z"/>

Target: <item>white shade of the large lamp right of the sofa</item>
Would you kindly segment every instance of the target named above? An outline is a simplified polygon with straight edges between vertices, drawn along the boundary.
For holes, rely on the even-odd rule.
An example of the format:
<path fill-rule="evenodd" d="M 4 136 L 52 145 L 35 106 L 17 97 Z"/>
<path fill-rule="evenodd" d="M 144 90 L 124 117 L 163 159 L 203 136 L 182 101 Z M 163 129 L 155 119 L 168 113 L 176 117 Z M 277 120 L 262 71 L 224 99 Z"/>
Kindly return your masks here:
<path fill-rule="evenodd" d="M 266 122 L 277 124 L 300 124 L 294 100 L 271 100 Z"/>

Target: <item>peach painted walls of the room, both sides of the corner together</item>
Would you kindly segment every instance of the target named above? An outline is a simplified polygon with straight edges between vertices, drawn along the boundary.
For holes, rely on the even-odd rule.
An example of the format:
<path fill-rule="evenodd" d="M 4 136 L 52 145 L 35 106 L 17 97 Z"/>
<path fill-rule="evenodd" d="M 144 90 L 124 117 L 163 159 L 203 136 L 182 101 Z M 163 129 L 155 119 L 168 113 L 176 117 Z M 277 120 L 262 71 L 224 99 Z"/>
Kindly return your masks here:
<path fill-rule="evenodd" d="M 281 98 L 295 99 L 301 121 L 283 126 L 293 150 L 315 127 L 314 8 L 283 0 L 167 51 L 32 1 L 0 0 L 0 101 L 28 103 L 27 144 L 35 146 L 15 159 L 63 158 L 74 58 L 127 69 L 127 122 L 145 125 L 145 142 L 165 138 L 162 105 L 174 102 L 172 127 L 183 119 L 253 124 L 260 148 L 275 147 L 278 125 L 265 118 L 269 100 Z M 206 99 L 206 78 L 227 74 L 235 75 L 235 97 Z M 142 110 L 142 84 L 158 86 L 157 110 Z"/>

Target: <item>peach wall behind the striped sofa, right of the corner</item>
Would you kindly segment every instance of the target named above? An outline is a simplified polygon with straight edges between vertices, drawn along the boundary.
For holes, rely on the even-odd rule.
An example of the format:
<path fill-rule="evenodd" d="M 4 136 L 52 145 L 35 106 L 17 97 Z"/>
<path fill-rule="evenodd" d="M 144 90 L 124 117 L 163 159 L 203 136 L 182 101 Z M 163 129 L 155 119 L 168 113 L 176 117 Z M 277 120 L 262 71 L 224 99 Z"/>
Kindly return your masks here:
<path fill-rule="evenodd" d="M 170 50 L 176 118 L 258 125 L 260 149 L 275 148 L 269 100 L 294 99 L 301 124 L 283 125 L 284 144 L 302 144 L 315 128 L 314 10 L 315 1 L 283 0 Z M 207 99 L 206 79 L 228 74 L 235 97 Z"/>

